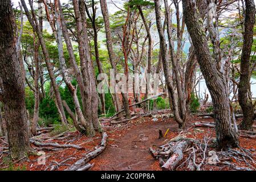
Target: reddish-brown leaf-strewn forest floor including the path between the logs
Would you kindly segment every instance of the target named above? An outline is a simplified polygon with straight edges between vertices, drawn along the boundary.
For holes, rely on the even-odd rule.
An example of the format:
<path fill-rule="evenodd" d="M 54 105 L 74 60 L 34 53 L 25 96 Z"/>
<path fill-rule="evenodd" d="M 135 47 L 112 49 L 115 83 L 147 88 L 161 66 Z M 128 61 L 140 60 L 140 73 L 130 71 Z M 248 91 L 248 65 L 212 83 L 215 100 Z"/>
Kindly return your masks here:
<path fill-rule="evenodd" d="M 161 115 L 161 114 L 159 114 Z M 173 118 L 161 119 L 158 121 L 152 121 L 152 116 L 139 117 L 128 122 L 123 123 L 111 123 L 109 119 L 102 122 L 104 130 L 108 134 L 108 144 L 102 154 L 91 160 L 90 163 L 94 163 L 94 167 L 90 170 L 107 170 L 107 171 L 119 171 L 119 170 L 144 170 L 144 171 L 156 171 L 162 170 L 159 161 L 153 158 L 150 147 L 157 148 L 169 142 L 170 139 L 179 137 L 193 138 L 201 140 L 202 143 L 205 136 L 209 138 L 215 137 L 214 128 L 209 127 L 194 127 L 195 122 L 213 122 L 212 118 L 194 117 L 188 118 L 187 129 L 180 131 L 177 123 Z M 159 130 L 163 134 L 168 131 L 164 138 L 159 139 Z M 58 144 L 75 144 L 82 147 L 78 150 L 76 148 L 54 148 L 54 147 L 38 147 L 32 144 L 36 151 L 44 151 L 46 156 L 46 163 L 40 164 L 40 156 L 30 155 L 29 158 L 23 160 L 11 162 L 7 157 L 7 144 L 3 139 L 0 139 L 0 169 L 7 170 L 64 170 L 72 166 L 77 160 L 84 157 L 85 154 L 91 152 L 97 148 L 101 141 L 101 135 L 97 134 L 95 137 L 88 138 L 84 135 L 80 135 L 78 132 L 66 132 L 58 137 L 52 137 L 49 133 L 40 135 L 38 139 L 42 143 L 55 143 Z M 234 158 L 225 158 L 229 164 L 232 163 L 236 167 L 241 169 L 255 169 L 256 164 L 256 138 L 241 136 L 239 137 L 240 146 L 247 151 L 250 151 L 251 159 L 247 160 L 247 155 L 234 156 Z M 191 149 L 191 148 L 190 148 Z M 239 150 L 239 149 L 237 149 Z M 184 158 L 178 164 L 176 170 L 188 170 L 188 163 L 186 159 L 190 157 L 189 149 L 184 152 Z M 200 163 L 202 155 L 197 156 L 197 163 Z M 250 157 L 249 157 L 250 158 Z M 210 165 L 204 162 L 202 170 L 231 170 L 233 166 L 228 164 Z"/>

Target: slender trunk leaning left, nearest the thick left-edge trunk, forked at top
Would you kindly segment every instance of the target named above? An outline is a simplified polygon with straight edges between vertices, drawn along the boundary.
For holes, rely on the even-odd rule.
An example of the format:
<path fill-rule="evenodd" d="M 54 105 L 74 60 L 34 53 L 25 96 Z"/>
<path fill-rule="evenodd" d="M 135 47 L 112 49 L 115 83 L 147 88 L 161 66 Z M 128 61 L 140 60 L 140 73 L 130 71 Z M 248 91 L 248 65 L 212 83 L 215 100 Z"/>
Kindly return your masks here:
<path fill-rule="evenodd" d="M 59 111 L 60 111 L 59 114 L 62 115 L 62 117 L 61 117 L 62 118 L 62 124 L 67 125 L 67 118 L 66 118 L 66 114 L 64 112 L 64 107 L 63 107 L 63 104 L 62 104 L 62 98 L 60 97 L 59 86 L 58 86 L 58 84 L 56 83 L 56 80 L 55 80 L 54 71 L 52 70 L 52 66 L 51 66 L 51 63 L 50 63 L 50 55 L 47 51 L 46 44 L 43 40 L 42 31 L 40 30 L 40 26 L 38 24 L 38 21 L 36 20 L 36 15 L 35 15 L 35 11 L 33 9 L 32 2 L 31 2 L 31 0 L 29 0 L 30 7 L 31 7 L 31 10 L 32 10 L 32 18 L 33 19 L 30 16 L 30 13 L 29 13 L 29 10 L 27 9 L 27 5 L 26 5 L 25 1 L 21 0 L 21 3 L 22 3 L 22 6 L 25 10 L 26 15 L 27 15 L 27 19 L 29 20 L 34 32 L 36 32 L 36 34 L 39 38 L 40 45 L 42 47 L 42 51 L 43 51 L 45 62 L 46 62 L 46 67 L 47 67 L 47 70 L 48 70 L 48 73 L 49 73 L 49 76 L 50 76 L 50 79 L 51 79 L 52 87 L 54 89 L 54 93 L 55 93 L 55 97 L 56 97 L 56 104 L 57 104 L 57 107 L 59 108 Z"/>

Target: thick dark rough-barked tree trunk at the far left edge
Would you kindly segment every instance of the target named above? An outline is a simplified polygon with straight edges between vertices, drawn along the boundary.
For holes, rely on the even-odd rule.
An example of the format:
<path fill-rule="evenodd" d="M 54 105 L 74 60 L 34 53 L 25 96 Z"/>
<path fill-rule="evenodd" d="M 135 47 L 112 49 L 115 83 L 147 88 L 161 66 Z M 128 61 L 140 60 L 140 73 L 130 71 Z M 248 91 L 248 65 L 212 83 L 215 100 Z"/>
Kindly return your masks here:
<path fill-rule="evenodd" d="M 13 159 L 30 150 L 25 106 L 25 85 L 17 56 L 16 23 L 10 0 L 0 0 L 0 100 L 5 105 L 9 151 Z"/>

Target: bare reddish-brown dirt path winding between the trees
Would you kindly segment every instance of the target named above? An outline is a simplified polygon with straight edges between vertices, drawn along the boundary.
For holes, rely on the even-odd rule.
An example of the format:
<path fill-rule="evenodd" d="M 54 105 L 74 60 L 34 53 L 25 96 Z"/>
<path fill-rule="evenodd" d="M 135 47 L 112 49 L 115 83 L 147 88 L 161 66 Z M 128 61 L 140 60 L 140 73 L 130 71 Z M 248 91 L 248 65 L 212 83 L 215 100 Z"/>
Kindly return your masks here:
<path fill-rule="evenodd" d="M 124 136 L 113 140 L 103 154 L 94 159 L 92 170 L 152 170 L 156 160 L 152 158 L 149 147 L 162 144 L 165 140 L 159 139 L 159 129 L 165 133 L 168 128 L 172 131 L 177 127 L 174 121 L 141 123 L 132 127 L 125 131 Z M 112 140 L 111 137 L 109 140 Z"/>

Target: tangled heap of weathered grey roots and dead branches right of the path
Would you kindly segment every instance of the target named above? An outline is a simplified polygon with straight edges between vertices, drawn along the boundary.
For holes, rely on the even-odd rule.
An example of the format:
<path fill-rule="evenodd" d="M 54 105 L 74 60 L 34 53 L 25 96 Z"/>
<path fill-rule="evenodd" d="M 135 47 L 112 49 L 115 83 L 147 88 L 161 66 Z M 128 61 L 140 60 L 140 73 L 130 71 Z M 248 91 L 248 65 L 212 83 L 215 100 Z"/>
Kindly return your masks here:
<path fill-rule="evenodd" d="M 214 147 L 212 138 L 206 135 L 201 141 L 192 138 L 176 137 L 156 150 L 153 148 L 149 148 L 149 150 L 153 157 L 159 160 L 163 170 L 176 170 L 186 165 L 186 168 L 190 171 L 201 171 L 204 170 L 205 164 L 228 166 L 234 170 L 255 170 L 251 165 L 251 163 L 255 164 L 255 156 L 249 151 L 240 148 L 240 150 L 217 152 L 214 149 L 209 150 L 212 147 Z M 184 156 L 186 156 L 186 159 L 184 159 Z M 228 160 L 244 162 L 247 167 L 236 166 L 237 164 L 227 162 Z"/>

